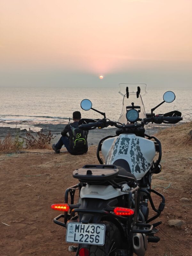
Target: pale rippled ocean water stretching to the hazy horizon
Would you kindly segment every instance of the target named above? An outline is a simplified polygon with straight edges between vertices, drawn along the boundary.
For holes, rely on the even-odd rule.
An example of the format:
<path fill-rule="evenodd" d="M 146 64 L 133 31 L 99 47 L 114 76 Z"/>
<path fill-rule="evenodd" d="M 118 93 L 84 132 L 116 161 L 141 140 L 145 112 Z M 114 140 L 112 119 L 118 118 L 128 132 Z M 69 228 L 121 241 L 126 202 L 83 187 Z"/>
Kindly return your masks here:
<path fill-rule="evenodd" d="M 146 89 L 142 97 L 146 113 L 163 101 L 164 92 L 172 90 L 175 101 L 164 103 L 156 109 L 155 114 L 172 110 L 182 112 L 183 121 L 192 119 L 192 90 Z M 56 87 L 1 87 L 0 126 L 20 127 L 21 129 L 39 130 L 34 124 L 66 124 L 76 110 L 81 111 L 82 118 L 102 118 L 93 110 L 84 111 L 81 100 L 92 101 L 92 108 L 106 113 L 106 117 L 117 121 L 121 111 L 123 96 L 116 88 L 56 88 Z"/>

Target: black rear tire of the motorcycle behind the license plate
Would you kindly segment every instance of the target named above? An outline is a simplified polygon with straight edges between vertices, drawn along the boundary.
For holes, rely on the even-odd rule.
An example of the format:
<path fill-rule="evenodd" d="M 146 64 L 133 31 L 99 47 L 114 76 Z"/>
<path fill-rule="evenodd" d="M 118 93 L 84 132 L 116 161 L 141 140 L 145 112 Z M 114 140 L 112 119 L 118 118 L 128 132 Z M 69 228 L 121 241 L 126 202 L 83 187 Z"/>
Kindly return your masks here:
<path fill-rule="evenodd" d="M 115 250 L 121 248 L 122 238 L 119 229 L 115 224 L 108 221 L 103 221 L 106 225 L 105 231 L 105 244 L 104 245 L 90 245 L 89 251 L 90 256 L 114 256 Z M 81 245 L 80 247 L 84 247 Z M 127 254 L 127 256 L 132 256 L 132 254 Z"/>

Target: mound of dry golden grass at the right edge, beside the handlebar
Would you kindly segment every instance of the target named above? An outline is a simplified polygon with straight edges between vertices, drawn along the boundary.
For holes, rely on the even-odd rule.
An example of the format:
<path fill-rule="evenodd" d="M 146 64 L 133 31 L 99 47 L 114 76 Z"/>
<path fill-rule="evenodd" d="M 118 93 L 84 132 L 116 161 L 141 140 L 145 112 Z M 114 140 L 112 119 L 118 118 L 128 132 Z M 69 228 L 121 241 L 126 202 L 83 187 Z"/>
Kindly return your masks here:
<path fill-rule="evenodd" d="M 169 142 L 175 146 L 192 146 L 192 134 L 189 134 L 191 131 L 192 122 L 189 122 L 161 130 L 158 134 L 161 136 L 161 139 L 165 141 L 169 140 Z"/>

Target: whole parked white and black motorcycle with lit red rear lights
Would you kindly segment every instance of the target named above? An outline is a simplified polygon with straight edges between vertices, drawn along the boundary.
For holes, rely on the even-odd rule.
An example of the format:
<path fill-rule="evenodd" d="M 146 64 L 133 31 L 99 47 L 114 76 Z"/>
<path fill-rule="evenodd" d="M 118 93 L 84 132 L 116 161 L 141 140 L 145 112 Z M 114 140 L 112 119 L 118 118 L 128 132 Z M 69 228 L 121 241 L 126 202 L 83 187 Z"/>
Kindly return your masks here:
<path fill-rule="evenodd" d="M 97 158 L 100 164 L 86 164 L 73 172 L 79 182 L 67 188 L 64 204 L 52 204 L 52 209 L 64 211 L 54 222 L 67 228 L 66 242 L 78 244 L 76 256 L 144 256 L 148 243 L 157 243 L 162 222 L 152 223 L 164 210 L 165 198 L 151 188 L 152 176 L 161 172 L 161 142 L 155 136 L 145 133 L 148 123 L 176 124 L 182 120 L 179 111 L 155 115 L 153 111 L 164 102 L 175 100 L 175 94 L 165 92 L 163 101 L 146 114 L 141 98 L 140 86 L 137 91 L 126 90 L 121 116 L 116 121 L 106 118 L 105 113 L 92 108 L 92 102 L 84 99 L 81 108 L 94 110 L 103 119 L 84 119 L 79 128 L 92 130 L 115 126 L 115 135 L 100 140 Z M 104 160 L 100 156 L 102 156 Z M 154 158 L 158 154 L 157 160 Z M 74 204 L 74 195 L 79 198 Z M 161 202 L 156 208 L 152 195 Z M 68 196 L 70 195 L 70 204 Z M 149 217 L 149 204 L 155 215 Z M 64 218 L 64 221 L 60 221 Z M 152 223 L 152 224 L 151 224 Z"/>

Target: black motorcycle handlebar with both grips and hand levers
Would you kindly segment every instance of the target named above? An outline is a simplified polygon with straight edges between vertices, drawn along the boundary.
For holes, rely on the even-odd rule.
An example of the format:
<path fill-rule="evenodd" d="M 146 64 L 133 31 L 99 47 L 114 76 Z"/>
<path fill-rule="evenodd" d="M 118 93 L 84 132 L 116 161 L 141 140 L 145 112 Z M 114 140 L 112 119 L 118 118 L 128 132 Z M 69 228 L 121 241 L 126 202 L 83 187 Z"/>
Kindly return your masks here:
<path fill-rule="evenodd" d="M 182 117 L 180 116 L 161 116 L 161 115 L 156 115 L 155 117 L 149 117 L 149 118 L 144 118 L 141 123 L 134 123 L 134 124 L 122 124 L 119 125 L 117 122 L 114 121 L 107 121 L 105 118 L 98 120 L 95 123 L 89 123 L 89 124 L 81 124 L 79 125 L 79 128 L 85 130 L 85 129 L 95 129 L 95 128 L 104 128 L 107 127 L 108 125 L 115 126 L 116 128 L 119 129 L 126 129 L 126 128 L 138 128 L 141 126 L 144 126 L 145 124 L 148 124 L 149 122 L 154 122 L 155 124 L 162 124 L 164 121 L 165 122 L 179 122 L 183 120 Z"/>

